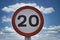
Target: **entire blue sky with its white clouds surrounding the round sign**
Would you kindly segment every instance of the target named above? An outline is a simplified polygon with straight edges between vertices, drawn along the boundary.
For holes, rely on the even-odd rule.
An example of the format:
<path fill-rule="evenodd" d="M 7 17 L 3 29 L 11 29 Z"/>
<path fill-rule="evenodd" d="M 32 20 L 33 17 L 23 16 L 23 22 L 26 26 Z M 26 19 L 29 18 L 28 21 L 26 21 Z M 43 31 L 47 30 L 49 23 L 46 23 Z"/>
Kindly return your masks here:
<path fill-rule="evenodd" d="M 13 30 L 11 18 L 16 9 L 25 5 L 36 7 L 44 16 L 44 27 L 32 40 L 35 40 L 35 37 L 36 40 L 60 40 L 60 0 L 0 0 L 0 39 L 24 39 Z M 16 35 L 18 37 L 15 37 Z"/>

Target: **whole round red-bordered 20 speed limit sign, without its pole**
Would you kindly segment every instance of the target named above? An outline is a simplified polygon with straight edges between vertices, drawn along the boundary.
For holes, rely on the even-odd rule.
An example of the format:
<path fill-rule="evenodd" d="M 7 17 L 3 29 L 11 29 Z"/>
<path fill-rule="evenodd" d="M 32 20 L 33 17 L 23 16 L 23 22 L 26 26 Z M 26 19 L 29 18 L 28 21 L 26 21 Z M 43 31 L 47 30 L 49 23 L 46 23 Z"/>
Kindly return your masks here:
<path fill-rule="evenodd" d="M 23 36 L 33 36 L 41 31 L 44 24 L 42 13 L 35 7 L 23 6 L 12 17 L 15 31 Z"/>

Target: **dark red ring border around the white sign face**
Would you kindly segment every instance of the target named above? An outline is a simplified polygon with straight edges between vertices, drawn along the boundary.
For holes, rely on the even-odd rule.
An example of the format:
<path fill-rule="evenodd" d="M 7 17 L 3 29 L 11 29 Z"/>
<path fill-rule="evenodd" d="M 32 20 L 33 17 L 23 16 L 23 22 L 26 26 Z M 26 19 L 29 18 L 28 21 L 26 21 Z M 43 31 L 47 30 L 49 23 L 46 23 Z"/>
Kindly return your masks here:
<path fill-rule="evenodd" d="M 34 32 L 32 32 L 32 33 L 24 33 L 24 32 L 21 32 L 21 31 L 16 27 L 16 24 L 15 24 L 16 15 L 17 15 L 20 11 L 22 11 L 22 10 L 24 10 L 24 9 L 34 10 L 34 11 L 37 12 L 38 15 L 40 16 L 40 20 L 41 20 L 40 26 L 39 26 L 39 28 L 38 28 L 36 31 L 34 31 Z M 19 8 L 19 9 L 17 9 L 17 10 L 15 11 L 13 17 L 12 17 L 12 25 L 13 25 L 14 30 L 15 30 L 18 34 L 23 35 L 23 36 L 26 36 L 26 37 L 33 36 L 33 35 L 37 34 L 39 31 L 41 31 L 41 29 L 42 29 L 42 27 L 43 27 L 43 24 L 44 24 L 44 18 L 43 18 L 42 13 L 41 13 L 38 9 L 36 9 L 36 8 L 34 8 L 34 7 L 32 7 L 32 6 L 24 6 L 24 7 L 21 7 L 21 8 Z"/>

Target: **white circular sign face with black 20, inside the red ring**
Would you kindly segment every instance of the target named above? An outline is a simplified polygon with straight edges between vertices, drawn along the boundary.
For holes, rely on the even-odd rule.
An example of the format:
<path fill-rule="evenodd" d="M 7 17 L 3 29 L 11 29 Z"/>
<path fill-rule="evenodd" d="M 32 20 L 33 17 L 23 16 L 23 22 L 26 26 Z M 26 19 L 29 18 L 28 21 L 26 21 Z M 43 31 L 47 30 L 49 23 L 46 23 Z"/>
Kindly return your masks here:
<path fill-rule="evenodd" d="M 32 33 L 40 26 L 40 17 L 34 10 L 24 9 L 15 18 L 17 28 L 24 33 Z"/>

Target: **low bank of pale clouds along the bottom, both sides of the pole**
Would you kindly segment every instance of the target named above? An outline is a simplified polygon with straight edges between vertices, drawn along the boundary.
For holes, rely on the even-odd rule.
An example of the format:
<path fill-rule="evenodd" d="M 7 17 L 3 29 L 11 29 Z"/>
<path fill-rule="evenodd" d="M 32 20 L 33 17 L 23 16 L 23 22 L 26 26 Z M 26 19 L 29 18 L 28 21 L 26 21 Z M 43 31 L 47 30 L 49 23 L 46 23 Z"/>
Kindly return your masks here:
<path fill-rule="evenodd" d="M 60 34 L 58 33 L 58 29 L 60 29 L 60 26 L 49 26 L 48 28 L 44 27 L 42 29 L 42 31 L 44 32 L 40 32 L 39 34 L 33 36 L 31 40 L 60 40 Z M 58 35 L 54 34 L 54 31 L 57 31 L 56 34 Z M 24 37 L 18 35 L 12 27 L 6 26 L 0 31 L 0 40 L 24 40 Z"/>

